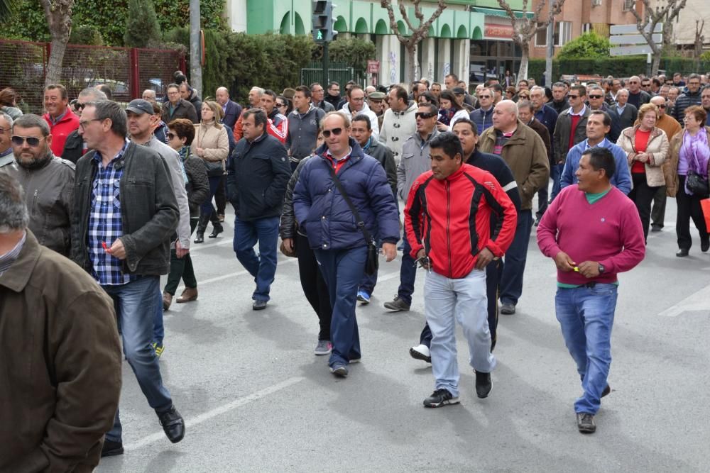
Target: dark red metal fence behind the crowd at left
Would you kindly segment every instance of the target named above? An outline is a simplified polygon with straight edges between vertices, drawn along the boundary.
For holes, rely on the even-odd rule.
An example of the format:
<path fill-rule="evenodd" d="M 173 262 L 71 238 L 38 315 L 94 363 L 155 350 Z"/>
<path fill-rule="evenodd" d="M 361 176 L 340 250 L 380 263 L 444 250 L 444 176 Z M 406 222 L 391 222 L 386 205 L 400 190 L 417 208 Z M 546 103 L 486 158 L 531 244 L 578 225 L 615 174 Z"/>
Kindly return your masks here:
<path fill-rule="evenodd" d="M 50 43 L 0 40 L 0 89 L 14 89 L 25 112 L 43 111 L 49 53 Z M 139 98 L 145 89 L 155 90 L 160 100 L 177 69 L 185 71 L 185 57 L 175 50 L 67 45 L 60 82 L 70 99 L 86 87 L 107 84 L 119 102 Z"/>

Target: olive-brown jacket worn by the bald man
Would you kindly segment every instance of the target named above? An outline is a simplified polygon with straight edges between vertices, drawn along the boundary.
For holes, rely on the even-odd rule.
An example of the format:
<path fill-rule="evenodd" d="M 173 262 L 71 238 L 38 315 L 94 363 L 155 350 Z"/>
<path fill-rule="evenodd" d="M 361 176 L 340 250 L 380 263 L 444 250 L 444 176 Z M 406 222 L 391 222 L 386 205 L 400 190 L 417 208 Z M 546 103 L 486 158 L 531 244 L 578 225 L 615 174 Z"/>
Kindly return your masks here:
<path fill-rule="evenodd" d="M 491 126 L 479 139 L 479 151 L 493 153 L 496 148 L 496 128 Z M 550 162 L 547 160 L 545 143 L 537 133 L 518 120 L 518 128 L 503 145 L 501 157 L 513 171 L 520 191 L 520 210 L 532 208 L 535 192 L 547 185 L 550 179 Z"/>

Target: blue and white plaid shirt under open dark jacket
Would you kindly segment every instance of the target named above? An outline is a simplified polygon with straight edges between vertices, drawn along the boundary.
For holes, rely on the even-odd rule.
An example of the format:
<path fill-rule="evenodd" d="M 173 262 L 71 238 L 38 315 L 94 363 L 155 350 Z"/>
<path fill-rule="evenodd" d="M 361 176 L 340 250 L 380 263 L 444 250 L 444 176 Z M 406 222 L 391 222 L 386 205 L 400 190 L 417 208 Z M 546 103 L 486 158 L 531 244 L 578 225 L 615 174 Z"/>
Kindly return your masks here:
<path fill-rule="evenodd" d="M 138 279 L 132 274 L 124 274 L 123 262 L 109 255 L 103 245 L 106 243 L 106 247 L 110 248 L 114 241 L 124 234 L 119 198 L 124 169 L 115 169 L 114 166 L 123 159 L 128 143 L 126 140 L 124 148 L 114 156 L 107 167 L 102 163 L 101 154 L 98 151 L 94 154 L 94 161 L 99 169 L 92 182 L 87 247 L 93 266 L 92 276 L 102 286 L 117 286 Z"/>

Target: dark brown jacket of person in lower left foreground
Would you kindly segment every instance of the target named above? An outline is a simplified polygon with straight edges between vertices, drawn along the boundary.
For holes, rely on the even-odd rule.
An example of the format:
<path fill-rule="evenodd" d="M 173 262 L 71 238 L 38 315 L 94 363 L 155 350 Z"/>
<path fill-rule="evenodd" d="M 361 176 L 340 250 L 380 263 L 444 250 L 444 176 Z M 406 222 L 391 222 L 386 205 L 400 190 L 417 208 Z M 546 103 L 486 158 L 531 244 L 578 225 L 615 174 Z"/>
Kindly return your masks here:
<path fill-rule="evenodd" d="M 91 472 L 121 392 L 111 299 L 27 230 L 0 301 L 0 472 Z"/>

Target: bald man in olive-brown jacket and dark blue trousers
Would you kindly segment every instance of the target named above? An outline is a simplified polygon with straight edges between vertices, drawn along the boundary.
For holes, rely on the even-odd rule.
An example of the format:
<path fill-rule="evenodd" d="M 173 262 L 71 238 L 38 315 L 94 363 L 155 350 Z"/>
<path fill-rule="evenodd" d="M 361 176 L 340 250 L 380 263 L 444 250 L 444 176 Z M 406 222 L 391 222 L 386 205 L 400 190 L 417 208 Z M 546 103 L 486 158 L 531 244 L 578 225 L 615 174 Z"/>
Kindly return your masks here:
<path fill-rule="evenodd" d="M 542 138 L 518 120 L 518 107 L 510 100 L 496 105 L 493 127 L 481 135 L 479 150 L 502 157 L 513 171 L 520 191 L 518 226 L 501 274 L 501 313 L 512 315 L 523 294 L 523 273 L 532 230 L 532 197 L 550 179 L 550 164 Z"/>

